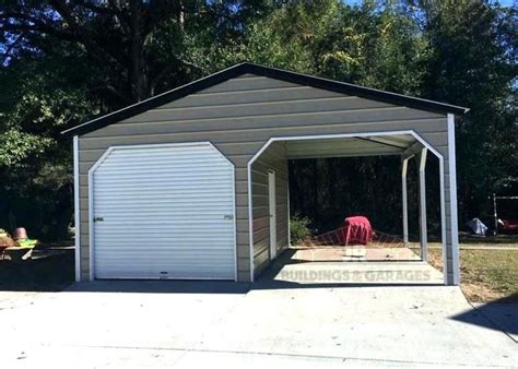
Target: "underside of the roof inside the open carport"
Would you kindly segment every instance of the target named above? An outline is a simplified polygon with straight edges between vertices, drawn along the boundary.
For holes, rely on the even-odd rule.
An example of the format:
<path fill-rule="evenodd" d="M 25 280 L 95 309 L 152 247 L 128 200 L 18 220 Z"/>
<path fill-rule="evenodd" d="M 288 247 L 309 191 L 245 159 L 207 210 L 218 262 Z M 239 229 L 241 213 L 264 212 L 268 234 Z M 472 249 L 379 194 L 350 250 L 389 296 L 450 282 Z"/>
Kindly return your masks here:
<path fill-rule="evenodd" d="M 290 159 L 401 155 L 417 141 L 410 134 L 286 141 Z"/>

